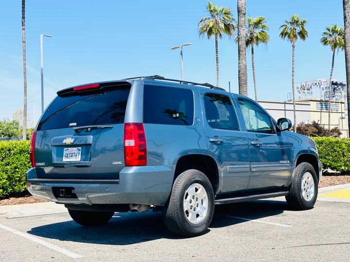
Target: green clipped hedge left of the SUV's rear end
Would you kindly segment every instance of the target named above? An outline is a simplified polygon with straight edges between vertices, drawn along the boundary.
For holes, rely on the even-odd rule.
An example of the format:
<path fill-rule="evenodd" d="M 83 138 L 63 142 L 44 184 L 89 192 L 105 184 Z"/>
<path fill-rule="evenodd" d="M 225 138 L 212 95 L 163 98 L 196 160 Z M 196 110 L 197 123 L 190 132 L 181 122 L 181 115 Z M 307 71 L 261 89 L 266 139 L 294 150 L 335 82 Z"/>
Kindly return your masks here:
<path fill-rule="evenodd" d="M 29 141 L 0 141 L 0 197 L 26 190 L 30 167 Z"/>

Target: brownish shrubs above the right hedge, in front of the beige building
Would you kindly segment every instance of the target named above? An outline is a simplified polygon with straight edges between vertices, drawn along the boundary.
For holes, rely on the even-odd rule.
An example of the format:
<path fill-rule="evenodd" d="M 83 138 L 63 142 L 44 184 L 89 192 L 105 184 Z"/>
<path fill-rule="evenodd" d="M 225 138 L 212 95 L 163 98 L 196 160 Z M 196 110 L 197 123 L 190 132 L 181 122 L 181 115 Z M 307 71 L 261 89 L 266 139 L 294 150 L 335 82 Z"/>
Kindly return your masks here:
<path fill-rule="evenodd" d="M 328 130 L 323 125 L 321 126 L 316 121 L 312 121 L 311 124 L 304 124 L 301 122 L 297 125 L 297 133 L 303 134 L 306 136 L 315 136 L 315 137 L 323 137 L 323 136 L 332 136 L 332 137 L 340 137 L 342 134 L 341 131 L 335 127 L 331 130 Z"/>

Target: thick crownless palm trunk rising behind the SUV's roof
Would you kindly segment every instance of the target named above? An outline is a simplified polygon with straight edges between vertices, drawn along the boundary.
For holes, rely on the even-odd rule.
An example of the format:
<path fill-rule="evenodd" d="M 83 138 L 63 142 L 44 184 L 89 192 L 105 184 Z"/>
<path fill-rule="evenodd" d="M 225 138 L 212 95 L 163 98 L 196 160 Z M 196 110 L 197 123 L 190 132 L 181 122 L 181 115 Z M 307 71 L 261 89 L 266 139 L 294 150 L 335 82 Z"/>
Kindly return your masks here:
<path fill-rule="evenodd" d="M 238 90 L 239 94 L 248 96 L 246 46 L 245 46 L 245 0 L 237 1 L 238 13 Z"/>

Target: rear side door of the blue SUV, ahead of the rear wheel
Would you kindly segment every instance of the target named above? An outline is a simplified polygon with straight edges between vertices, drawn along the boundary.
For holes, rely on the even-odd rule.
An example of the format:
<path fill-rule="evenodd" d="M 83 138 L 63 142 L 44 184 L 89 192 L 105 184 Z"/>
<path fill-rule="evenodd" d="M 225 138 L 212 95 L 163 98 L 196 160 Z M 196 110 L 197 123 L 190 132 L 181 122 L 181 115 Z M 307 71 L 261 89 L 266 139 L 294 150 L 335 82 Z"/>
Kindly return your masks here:
<path fill-rule="evenodd" d="M 241 131 L 232 100 L 224 92 L 201 90 L 209 154 L 219 165 L 219 193 L 245 190 L 250 167 L 248 140 Z"/>

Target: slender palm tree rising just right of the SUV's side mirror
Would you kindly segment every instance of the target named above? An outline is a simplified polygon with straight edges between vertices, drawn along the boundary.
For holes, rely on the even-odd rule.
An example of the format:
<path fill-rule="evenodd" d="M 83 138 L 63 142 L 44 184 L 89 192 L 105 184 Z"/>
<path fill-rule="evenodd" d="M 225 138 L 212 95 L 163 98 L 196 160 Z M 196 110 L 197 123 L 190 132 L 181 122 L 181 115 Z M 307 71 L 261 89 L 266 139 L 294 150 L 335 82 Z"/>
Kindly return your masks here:
<path fill-rule="evenodd" d="M 292 90 L 293 90 L 293 111 L 294 111 L 294 132 L 297 132 L 297 114 L 295 107 L 295 89 L 294 89 L 294 51 L 295 43 L 297 39 L 305 41 L 308 37 L 308 33 L 305 29 L 306 20 L 299 19 L 299 16 L 293 15 L 291 20 L 284 21 L 284 24 L 280 26 L 282 29 L 280 37 L 284 40 L 287 38 L 292 43 Z"/>

